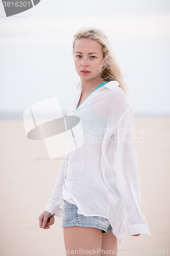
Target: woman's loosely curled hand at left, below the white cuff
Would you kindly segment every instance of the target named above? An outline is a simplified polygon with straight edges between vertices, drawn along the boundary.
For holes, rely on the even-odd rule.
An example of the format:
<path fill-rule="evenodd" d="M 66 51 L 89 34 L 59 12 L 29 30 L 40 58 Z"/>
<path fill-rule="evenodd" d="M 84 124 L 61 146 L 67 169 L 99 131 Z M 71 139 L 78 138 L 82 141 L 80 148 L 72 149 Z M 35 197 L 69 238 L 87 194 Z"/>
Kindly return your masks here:
<path fill-rule="evenodd" d="M 42 214 L 39 216 L 39 226 L 43 229 L 50 228 L 51 225 L 55 222 L 55 214 L 51 215 L 50 212 L 44 210 Z"/>

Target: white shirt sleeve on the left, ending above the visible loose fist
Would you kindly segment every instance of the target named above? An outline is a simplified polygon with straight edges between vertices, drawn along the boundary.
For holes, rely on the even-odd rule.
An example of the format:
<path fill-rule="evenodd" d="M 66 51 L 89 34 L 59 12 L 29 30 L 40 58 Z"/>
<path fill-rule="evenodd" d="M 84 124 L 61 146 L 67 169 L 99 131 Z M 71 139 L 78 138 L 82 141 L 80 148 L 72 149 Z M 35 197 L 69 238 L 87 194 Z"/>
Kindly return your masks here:
<path fill-rule="evenodd" d="M 61 163 L 51 197 L 50 197 L 50 199 L 48 199 L 48 203 L 44 209 L 44 210 L 50 212 L 52 215 L 55 213 L 55 215 L 57 217 L 61 217 L 61 215 L 62 215 L 62 209 L 60 208 L 60 205 L 63 201 L 62 186 L 64 184 L 64 170 L 65 170 L 65 163 L 66 163 L 67 155 L 68 154 L 66 154 L 63 158 L 63 161 Z"/>

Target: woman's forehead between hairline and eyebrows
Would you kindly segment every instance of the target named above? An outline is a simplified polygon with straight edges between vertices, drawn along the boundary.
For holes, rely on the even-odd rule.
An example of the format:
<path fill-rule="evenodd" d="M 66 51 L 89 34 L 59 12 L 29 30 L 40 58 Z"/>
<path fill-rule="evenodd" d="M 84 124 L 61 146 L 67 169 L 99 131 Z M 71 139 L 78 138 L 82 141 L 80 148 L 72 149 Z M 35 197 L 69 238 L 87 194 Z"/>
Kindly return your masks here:
<path fill-rule="evenodd" d="M 93 49 L 95 51 L 102 51 L 102 45 L 100 42 L 94 41 L 90 38 L 80 38 L 75 42 L 75 51 L 81 50 L 86 51 L 89 49 Z"/>

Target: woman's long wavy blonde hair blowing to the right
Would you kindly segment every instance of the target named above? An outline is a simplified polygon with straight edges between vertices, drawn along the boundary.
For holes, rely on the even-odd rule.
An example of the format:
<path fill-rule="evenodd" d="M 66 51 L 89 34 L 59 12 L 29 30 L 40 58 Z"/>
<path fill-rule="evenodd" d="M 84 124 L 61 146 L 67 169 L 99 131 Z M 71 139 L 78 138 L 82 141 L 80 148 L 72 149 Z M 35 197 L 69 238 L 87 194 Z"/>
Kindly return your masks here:
<path fill-rule="evenodd" d="M 92 40 L 100 42 L 100 44 L 102 45 L 104 59 L 100 68 L 99 76 L 102 75 L 102 79 L 108 82 L 114 80 L 118 81 L 119 87 L 122 88 L 127 95 L 129 88 L 127 87 L 127 84 L 123 79 L 122 72 L 118 67 L 115 55 L 104 32 L 100 29 L 95 28 L 79 29 L 78 32 L 74 35 L 74 39 L 72 40 L 72 55 L 74 55 L 75 42 L 80 38 L 90 38 Z"/>

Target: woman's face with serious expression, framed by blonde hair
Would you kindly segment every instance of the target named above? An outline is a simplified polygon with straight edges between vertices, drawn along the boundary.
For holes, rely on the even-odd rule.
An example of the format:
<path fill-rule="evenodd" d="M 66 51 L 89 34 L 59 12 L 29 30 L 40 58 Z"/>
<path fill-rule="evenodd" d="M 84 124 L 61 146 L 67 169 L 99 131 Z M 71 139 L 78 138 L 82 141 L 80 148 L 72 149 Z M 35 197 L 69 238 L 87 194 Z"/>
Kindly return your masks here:
<path fill-rule="evenodd" d="M 102 45 L 90 38 L 78 39 L 75 42 L 74 61 L 76 71 L 83 81 L 98 78 L 103 62 Z M 88 72 L 84 73 L 83 70 Z"/>

